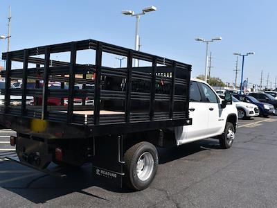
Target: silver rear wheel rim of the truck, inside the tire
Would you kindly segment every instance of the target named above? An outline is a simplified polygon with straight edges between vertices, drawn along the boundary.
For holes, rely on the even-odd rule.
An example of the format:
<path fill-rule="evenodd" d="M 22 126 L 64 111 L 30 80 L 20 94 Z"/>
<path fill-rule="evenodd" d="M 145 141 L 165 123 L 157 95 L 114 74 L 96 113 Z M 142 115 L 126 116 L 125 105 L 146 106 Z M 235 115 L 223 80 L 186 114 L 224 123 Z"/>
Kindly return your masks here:
<path fill-rule="evenodd" d="M 154 170 L 154 158 L 153 156 L 145 152 L 140 157 L 138 162 L 136 162 L 136 175 L 138 175 L 139 180 L 148 180 Z"/>

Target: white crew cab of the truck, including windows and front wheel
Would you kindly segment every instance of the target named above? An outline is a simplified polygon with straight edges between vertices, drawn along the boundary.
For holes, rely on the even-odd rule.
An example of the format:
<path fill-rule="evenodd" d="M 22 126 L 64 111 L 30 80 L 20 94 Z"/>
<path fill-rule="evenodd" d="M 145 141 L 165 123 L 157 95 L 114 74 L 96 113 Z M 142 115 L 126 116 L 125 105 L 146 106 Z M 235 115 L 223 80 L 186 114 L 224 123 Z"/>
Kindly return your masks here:
<path fill-rule="evenodd" d="M 226 98 L 222 100 L 210 85 L 192 78 L 189 111 L 193 124 L 175 128 L 177 145 L 218 138 L 222 148 L 232 146 L 238 123 L 238 110 L 232 104 L 231 94 L 226 92 Z"/>

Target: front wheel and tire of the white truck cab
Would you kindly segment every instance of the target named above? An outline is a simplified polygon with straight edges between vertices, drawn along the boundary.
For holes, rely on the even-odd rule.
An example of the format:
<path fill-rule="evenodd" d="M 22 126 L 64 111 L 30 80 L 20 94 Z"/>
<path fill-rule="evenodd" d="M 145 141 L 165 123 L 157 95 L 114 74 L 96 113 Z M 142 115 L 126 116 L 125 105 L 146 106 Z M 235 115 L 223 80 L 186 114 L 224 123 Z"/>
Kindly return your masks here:
<path fill-rule="evenodd" d="M 226 122 L 224 132 L 220 137 L 220 147 L 223 149 L 231 148 L 233 139 L 235 139 L 235 128 L 233 123 Z"/>

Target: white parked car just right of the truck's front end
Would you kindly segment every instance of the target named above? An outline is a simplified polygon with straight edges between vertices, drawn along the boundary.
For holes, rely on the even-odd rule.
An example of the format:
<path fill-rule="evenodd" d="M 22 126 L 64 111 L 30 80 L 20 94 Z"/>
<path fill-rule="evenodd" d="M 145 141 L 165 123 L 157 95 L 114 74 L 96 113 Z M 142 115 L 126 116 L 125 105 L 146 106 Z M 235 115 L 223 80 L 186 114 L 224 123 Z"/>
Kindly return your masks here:
<path fill-rule="evenodd" d="M 224 98 L 224 96 L 220 96 Z M 258 116 L 260 114 L 259 108 L 257 105 L 252 103 L 244 103 L 232 96 L 232 101 L 235 103 L 235 107 L 238 110 L 238 119 L 250 119 L 251 116 Z"/>

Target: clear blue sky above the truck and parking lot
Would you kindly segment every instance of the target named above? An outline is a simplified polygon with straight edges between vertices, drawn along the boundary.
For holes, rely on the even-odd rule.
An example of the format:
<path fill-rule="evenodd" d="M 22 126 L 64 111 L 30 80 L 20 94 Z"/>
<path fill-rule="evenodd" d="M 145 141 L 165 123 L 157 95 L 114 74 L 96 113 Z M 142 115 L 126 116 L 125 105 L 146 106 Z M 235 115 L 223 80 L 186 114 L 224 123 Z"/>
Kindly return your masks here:
<path fill-rule="evenodd" d="M 141 12 L 145 7 L 156 6 L 157 11 L 141 17 L 141 51 L 191 64 L 195 77 L 204 74 L 206 53 L 206 44 L 196 42 L 195 37 L 210 40 L 220 36 L 222 41 L 209 45 L 211 76 L 234 83 L 233 53 L 255 52 L 244 60 L 244 79 L 260 85 L 263 71 L 262 85 L 267 84 L 268 74 L 269 86 L 270 82 L 272 87 L 275 84 L 277 1 L 274 0 L 0 0 L 0 35 L 8 31 L 8 6 L 12 7 L 12 51 L 89 38 L 134 49 L 136 19 L 120 12 Z M 0 52 L 6 49 L 7 41 L 0 40 Z M 118 60 L 113 61 L 118 64 Z M 239 69 L 241 65 L 240 57 Z M 240 76 L 239 73 L 239 82 Z"/>

